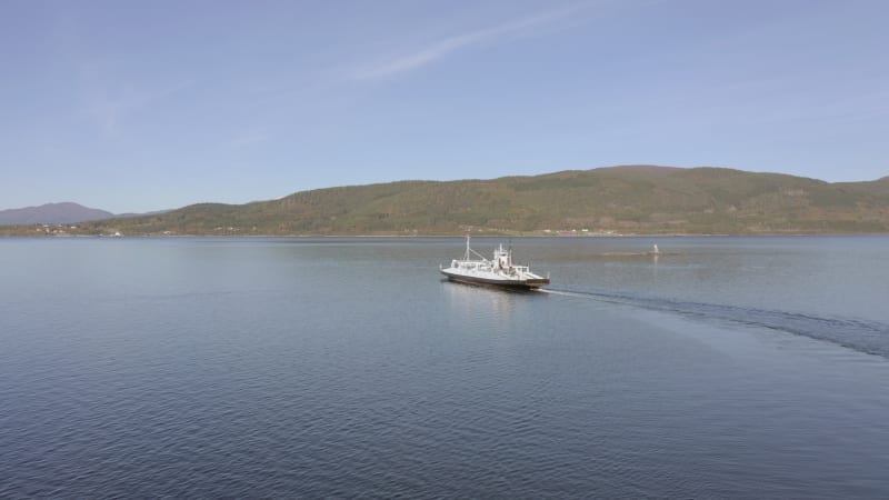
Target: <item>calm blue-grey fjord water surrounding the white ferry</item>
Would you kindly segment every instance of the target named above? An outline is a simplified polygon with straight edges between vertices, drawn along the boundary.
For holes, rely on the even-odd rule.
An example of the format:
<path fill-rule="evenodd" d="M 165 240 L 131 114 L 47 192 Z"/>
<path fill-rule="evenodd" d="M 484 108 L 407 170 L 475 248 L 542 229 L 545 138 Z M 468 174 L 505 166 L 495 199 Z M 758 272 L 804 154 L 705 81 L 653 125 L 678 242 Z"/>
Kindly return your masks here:
<path fill-rule="evenodd" d="M 462 246 L 0 239 L 0 497 L 889 497 L 889 238 Z"/>

